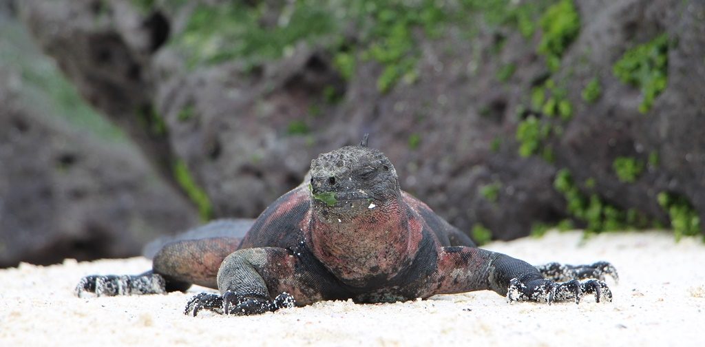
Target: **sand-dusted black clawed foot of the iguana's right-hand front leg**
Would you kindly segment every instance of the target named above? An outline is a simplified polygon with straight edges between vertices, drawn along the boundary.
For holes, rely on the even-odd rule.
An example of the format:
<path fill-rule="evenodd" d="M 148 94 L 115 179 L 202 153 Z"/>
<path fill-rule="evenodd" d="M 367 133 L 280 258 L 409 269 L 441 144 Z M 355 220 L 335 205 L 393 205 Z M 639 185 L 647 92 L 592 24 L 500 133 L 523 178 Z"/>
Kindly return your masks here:
<path fill-rule="evenodd" d="M 523 284 L 518 279 L 512 279 L 507 291 L 507 300 L 510 303 L 515 301 L 536 301 L 548 304 L 575 301 L 578 304 L 586 294 L 594 294 L 598 303 L 601 298 L 612 301 L 610 288 L 603 281 L 596 279 L 584 282 L 573 279 L 563 283 L 539 279 L 529 281 L 527 284 Z"/>

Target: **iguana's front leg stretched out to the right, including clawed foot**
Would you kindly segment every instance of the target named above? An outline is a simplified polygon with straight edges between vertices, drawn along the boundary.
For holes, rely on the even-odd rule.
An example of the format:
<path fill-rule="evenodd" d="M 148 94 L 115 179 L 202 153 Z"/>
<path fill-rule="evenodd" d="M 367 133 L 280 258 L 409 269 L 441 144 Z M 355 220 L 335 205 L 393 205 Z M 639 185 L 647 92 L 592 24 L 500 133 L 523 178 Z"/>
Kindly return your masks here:
<path fill-rule="evenodd" d="M 594 294 L 598 302 L 601 298 L 612 299 L 611 291 L 602 281 L 552 281 L 527 262 L 480 248 L 441 248 L 435 277 L 439 282 L 436 294 L 489 289 L 506 296 L 510 302 L 579 303 L 585 294 Z"/>

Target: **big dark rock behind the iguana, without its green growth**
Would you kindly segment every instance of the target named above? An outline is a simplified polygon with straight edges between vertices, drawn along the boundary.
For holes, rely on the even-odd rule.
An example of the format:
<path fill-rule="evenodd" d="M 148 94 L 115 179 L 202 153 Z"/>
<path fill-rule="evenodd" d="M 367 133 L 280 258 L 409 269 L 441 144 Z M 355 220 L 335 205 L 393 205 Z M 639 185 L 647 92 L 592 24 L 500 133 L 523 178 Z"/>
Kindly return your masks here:
<path fill-rule="evenodd" d="M 576 182 L 593 178 L 594 188 L 581 184 L 582 192 L 619 209 L 667 222 L 656 195 L 668 191 L 687 197 L 705 220 L 705 5 L 575 4 L 580 35 L 556 73 L 537 54 L 540 33 L 525 39 L 517 30 L 483 27 L 467 39 L 451 27 L 441 37 L 415 35 L 418 81 L 400 82 L 388 93 L 376 86 L 379 63 L 359 61 L 345 82 L 328 51 L 315 44 L 254 67 L 228 61 L 187 68 L 177 49 L 159 42 L 184 27 L 188 8 L 140 13 L 111 5 L 107 15 L 75 1 L 31 1 L 23 8 L 42 47 L 83 95 L 145 152 L 157 153 L 153 160 L 185 160 L 221 217 L 255 217 L 299 183 L 310 159 L 371 133 L 370 145 L 395 163 L 402 187 L 465 231 L 483 224 L 508 239 L 527 235 L 535 222 L 570 217 L 553 188 L 553 176 L 563 168 Z M 661 32 L 675 42 L 668 52 L 668 87 L 651 111 L 639 114 L 638 88 L 620 82 L 612 68 L 627 49 Z M 499 38 L 503 48 L 497 52 Z M 509 63 L 515 72 L 501 82 L 497 71 Z M 570 121 L 528 106 L 532 88 L 549 76 L 568 90 Z M 580 92 L 594 77 L 601 80 L 602 97 L 588 104 Z M 342 95 L 340 102 L 324 101 L 329 86 Z M 166 135 L 153 142 L 139 141 L 147 135 L 126 115 L 144 105 L 166 123 Z M 517 154 L 517 125 L 531 114 L 562 128 L 542 144 L 552 148 L 553 161 Z M 619 180 L 617 157 L 646 162 L 651 152 L 659 154 L 658 166 L 633 183 Z M 496 197 L 482 193 L 486 185 L 498 187 Z"/>

